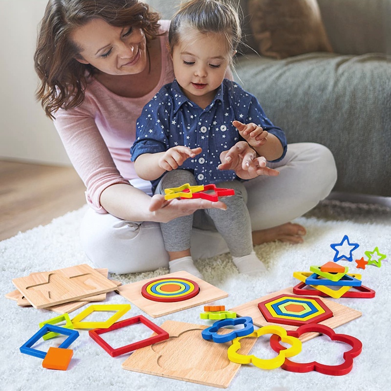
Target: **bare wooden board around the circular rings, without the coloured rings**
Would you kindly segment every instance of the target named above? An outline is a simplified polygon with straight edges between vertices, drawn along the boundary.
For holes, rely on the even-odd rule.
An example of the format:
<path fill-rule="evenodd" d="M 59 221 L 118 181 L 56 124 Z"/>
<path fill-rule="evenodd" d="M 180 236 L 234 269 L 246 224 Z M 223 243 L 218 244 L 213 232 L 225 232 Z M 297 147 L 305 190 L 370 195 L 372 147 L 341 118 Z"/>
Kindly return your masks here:
<path fill-rule="evenodd" d="M 150 278 L 148 280 L 122 285 L 116 290 L 121 296 L 125 297 L 125 299 L 129 300 L 130 303 L 133 303 L 141 310 L 146 312 L 148 315 L 152 316 L 152 318 L 158 318 L 159 316 L 172 314 L 177 311 L 182 311 L 187 308 L 192 308 L 197 305 L 210 303 L 215 300 L 224 299 L 225 297 L 228 297 L 228 293 L 185 271 L 166 274 L 158 278 L 159 279 L 186 278 L 188 280 L 193 280 L 199 286 L 199 293 L 195 297 L 188 300 L 183 300 L 181 302 L 161 303 L 161 302 L 154 302 L 152 300 L 146 299 L 141 294 L 141 288 L 147 282 L 156 280 L 157 279 L 156 277 Z"/>

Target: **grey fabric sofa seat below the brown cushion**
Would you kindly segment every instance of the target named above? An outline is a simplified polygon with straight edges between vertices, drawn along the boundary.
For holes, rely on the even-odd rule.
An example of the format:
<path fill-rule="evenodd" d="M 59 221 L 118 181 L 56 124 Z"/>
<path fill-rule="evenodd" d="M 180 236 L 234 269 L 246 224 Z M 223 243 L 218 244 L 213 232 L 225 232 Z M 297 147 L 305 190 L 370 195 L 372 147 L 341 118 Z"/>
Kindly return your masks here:
<path fill-rule="evenodd" d="M 288 143 L 316 142 L 331 150 L 338 169 L 334 190 L 391 196 L 387 60 L 382 54 L 253 55 L 240 58 L 236 70 L 238 82 L 285 130 Z"/>

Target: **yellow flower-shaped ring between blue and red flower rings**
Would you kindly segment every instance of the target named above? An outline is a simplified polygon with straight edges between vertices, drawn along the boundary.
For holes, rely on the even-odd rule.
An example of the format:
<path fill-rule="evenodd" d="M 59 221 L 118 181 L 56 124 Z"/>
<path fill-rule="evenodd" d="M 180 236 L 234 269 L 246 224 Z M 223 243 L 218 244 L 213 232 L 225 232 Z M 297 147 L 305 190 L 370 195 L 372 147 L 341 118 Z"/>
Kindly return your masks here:
<path fill-rule="evenodd" d="M 281 342 L 285 342 L 291 345 L 290 348 L 280 350 L 277 357 L 271 359 L 261 359 L 253 354 L 244 355 L 239 354 L 237 351 L 240 349 L 240 340 L 242 338 L 257 337 L 265 334 L 277 334 L 281 338 Z M 238 364 L 250 364 L 252 363 L 261 369 L 275 369 L 282 366 L 286 357 L 292 357 L 302 351 L 302 341 L 296 337 L 290 337 L 287 335 L 286 330 L 281 326 L 264 326 L 244 337 L 235 338 L 232 341 L 232 345 L 228 348 L 228 359 Z"/>

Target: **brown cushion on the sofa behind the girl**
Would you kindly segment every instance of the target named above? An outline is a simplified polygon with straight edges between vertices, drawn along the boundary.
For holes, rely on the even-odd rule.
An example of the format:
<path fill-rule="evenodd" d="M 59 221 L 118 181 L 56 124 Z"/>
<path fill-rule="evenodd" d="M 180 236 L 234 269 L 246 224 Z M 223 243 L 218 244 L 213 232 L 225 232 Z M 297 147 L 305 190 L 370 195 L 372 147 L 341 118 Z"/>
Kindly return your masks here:
<path fill-rule="evenodd" d="M 249 0 L 255 49 L 283 59 L 309 52 L 331 52 L 317 0 Z"/>

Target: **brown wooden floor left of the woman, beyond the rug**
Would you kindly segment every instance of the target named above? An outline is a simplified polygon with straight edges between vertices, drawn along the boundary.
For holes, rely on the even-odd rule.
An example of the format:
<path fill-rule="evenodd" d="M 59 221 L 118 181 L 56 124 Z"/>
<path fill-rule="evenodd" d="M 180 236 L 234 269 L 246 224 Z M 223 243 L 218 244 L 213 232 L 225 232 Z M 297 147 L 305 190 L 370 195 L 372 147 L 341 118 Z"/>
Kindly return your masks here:
<path fill-rule="evenodd" d="M 71 167 L 0 161 L 0 240 L 79 209 L 84 191 Z"/>

